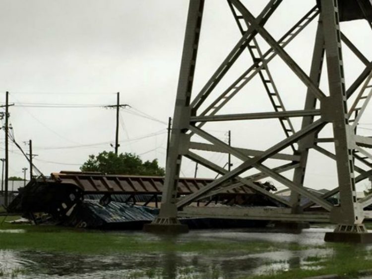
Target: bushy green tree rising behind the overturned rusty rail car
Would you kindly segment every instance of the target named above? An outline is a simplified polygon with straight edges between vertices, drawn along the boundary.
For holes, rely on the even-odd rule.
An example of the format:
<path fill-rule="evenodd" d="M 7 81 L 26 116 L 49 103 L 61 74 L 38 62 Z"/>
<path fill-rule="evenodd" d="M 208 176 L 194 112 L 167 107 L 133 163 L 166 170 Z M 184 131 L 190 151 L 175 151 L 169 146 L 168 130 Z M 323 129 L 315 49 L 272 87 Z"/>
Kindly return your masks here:
<path fill-rule="evenodd" d="M 158 160 L 142 162 L 139 156 L 132 153 L 103 151 L 97 156 L 89 155 L 89 159 L 80 167 L 81 171 L 99 171 L 106 174 L 153 175 L 164 176 L 163 167 L 159 167 Z"/>

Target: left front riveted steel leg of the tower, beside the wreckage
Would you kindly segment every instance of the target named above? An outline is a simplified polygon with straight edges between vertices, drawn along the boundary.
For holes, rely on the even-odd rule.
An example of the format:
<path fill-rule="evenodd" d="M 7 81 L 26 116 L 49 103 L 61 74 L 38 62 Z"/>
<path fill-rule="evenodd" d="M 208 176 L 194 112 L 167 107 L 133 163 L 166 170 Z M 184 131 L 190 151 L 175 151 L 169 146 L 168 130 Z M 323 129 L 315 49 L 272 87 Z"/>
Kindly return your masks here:
<path fill-rule="evenodd" d="M 162 193 L 160 214 L 153 225 L 179 224 L 177 220 L 177 185 L 181 168 L 184 144 L 189 141 L 186 134 L 191 116 L 190 98 L 200 37 L 204 0 L 190 0 L 186 23 L 184 50 L 178 83 L 172 134 L 166 165 L 166 176 Z M 152 228 L 155 228 L 153 226 Z M 151 231 L 151 224 L 145 226 Z M 154 229 L 156 230 L 156 228 Z"/>

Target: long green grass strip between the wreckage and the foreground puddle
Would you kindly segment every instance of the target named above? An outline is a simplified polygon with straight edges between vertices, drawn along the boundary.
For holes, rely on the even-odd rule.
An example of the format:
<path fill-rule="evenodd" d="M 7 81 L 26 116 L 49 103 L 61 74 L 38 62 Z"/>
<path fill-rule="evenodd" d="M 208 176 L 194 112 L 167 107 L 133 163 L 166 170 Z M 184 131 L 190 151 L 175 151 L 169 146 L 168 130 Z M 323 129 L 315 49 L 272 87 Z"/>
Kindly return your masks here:
<path fill-rule="evenodd" d="M 269 252 L 279 249 L 301 250 L 304 246 L 296 243 L 273 243 L 268 241 L 237 242 L 234 240 L 206 241 L 171 236 L 157 237 L 146 233 L 103 232 L 72 229 L 61 226 L 11 224 L 0 218 L 0 248 L 14 250 L 37 250 L 48 252 L 67 252 L 79 254 L 111 254 L 132 252 L 198 252 L 249 251 Z M 14 220 L 18 217 L 8 217 Z M 13 230 L 23 229 L 24 233 L 14 235 Z M 7 232 L 8 231 L 8 232 Z"/>

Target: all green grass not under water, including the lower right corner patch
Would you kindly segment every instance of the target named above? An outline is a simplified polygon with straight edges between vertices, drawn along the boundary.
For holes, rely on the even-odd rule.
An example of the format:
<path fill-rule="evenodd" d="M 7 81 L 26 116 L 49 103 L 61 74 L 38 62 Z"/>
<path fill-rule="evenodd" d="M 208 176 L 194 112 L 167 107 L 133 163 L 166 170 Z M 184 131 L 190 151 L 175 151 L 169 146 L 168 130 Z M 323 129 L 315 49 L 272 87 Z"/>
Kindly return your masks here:
<path fill-rule="evenodd" d="M 7 221 L 18 217 L 7 217 Z M 143 233 L 101 232 L 65 228 L 60 226 L 44 226 L 29 224 L 10 224 L 2 222 L 0 230 L 24 229 L 24 233 L 0 233 L 0 249 L 64 252 L 73 254 L 112 255 L 116 253 L 148 253 L 148 252 L 195 252 L 202 255 L 213 255 L 219 252 L 247 252 L 248 254 L 299 251 L 308 249 L 332 249 L 329 256 L 312 256 L 306 259 L 307 269 L 289 269 L 276 272 L 273 270 L 265 276 L 251 276 L 254 279 L 288 279 L 306 278 L 310 276 L 338 274 L 346 278 L 355 278 L 361 270 L 372 269 L 372 253 L 366 246 L 325 243 L 322 245 L 302 246 L 297 243 L 276 243 L 268 241 L 228 240 L 177 241 L 171 238 L 158 238 Z M 273 263 L 267 263 L 268 265 Z M 311 267 L 317 267 L 311 269 Z M 185 277 L 187 278 L 187 277 Z"/>

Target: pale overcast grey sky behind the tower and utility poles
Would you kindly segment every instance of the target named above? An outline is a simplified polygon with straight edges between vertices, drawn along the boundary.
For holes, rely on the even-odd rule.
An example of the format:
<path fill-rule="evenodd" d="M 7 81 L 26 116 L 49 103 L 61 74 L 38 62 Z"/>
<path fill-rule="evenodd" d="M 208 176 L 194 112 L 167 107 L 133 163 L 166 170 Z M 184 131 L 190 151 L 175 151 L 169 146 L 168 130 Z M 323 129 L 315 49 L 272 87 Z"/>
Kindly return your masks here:
<path fill-rule="evenodd" d="M 240 39 L 227 2 L 205 2 L 194 94 Z M 267 1 L 244 2 L 257 15 Z M 315 0 L 284 0 L 265 27 L 279 39 L 314 4 Z M 15 139 L 25 150 L 28 147 L 23 142 L 33 140 L 38 154 L 35 165 L 44 174 L 78 170 L 89 154 L 113 150 L 115 111 L 103 106 L 115 104 L 116 92 L 121 92 L 122 104 L 132 107 L 121 112 L 120 152 L 136 153 L 143 160 L 157 158 L 165 165 L 166 122 L 173 115 L 187 7 L 187 0 L 0 0 L 0 98 L 4 100 L 4 92 L 10 92 L 10 102 L 16 104 L 10 108 Z M 342 23 L 341 27 L 371 59 L 372 32 L 367 22 Z M 286 48 L 307 73 L 315 28 L 316 20 Z M 260 38 L 259 42 L 267 50 Z M 363 64 L 345 46 L 344 51 L 349 86 Z M 244 53 L 212 96 L 250 65 L 251 58 Z M 302 109 L 304 85 L 280 58 L 270 66 L 287 110 Z M 327 93 L 326 79 L 321 89 Z M 45 108 L 39 104 L 94 107 Z M 221 113 L 272 110 L 255 78 Z M 371 135 L 371 117 L 369 111 L 361 121 L 365 135 Z M 297 129 L 300 123 L 294 119 Z M 267 149 L 284 137 L 277 120 L 212 123 L 205 129 L 222 140 L 230 129 L 232 144 L 249 149 Z M 322 135 L 330 136 L 330 129 Z M 324 147 L 332 151 L 331 145 Z M 10 175 L 22 176 L 28 163 L 14 145 L 10 151 Z M 200 154 L 221 166 L 227 161 L 226 155 Z M 311 152 L 310 159 L 306 186 L 336 186 L 334 162 L 316 152 Z M 233 163 L 238 166 L 240 161 L 233 159 Z M 284 162 L 267 163 L 278 164 Z M 193 176 L 194 166 L 184 160 L 182 176 Z M 214 175 L 199 168 L 200 177 Z"/>

